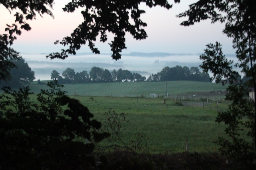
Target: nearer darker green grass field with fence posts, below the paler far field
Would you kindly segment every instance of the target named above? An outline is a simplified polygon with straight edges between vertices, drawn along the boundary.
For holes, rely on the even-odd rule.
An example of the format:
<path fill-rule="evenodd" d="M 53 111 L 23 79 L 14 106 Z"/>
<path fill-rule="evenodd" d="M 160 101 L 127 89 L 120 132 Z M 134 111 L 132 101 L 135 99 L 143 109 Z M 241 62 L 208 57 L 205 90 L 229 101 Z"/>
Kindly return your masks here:
<path fill-rule="evenodd" d="M 211 103 L 211 108 L 203 108 L 177 106 L 171 99 L 164 104 L 159 98 L 94 97 L 91 100 L 90 97 L 72 97 L 87 106 L 97 120 L 104 119 L 104 113 L 110 108 L 127 114 L 130 122 L 123 123 L 124 141 L 135 140 L 140 132 L 149 137 L 152 153 L 184 152 L 186 137 L 191 152 L 217 152 L 218 146 L 213 141 L 225 135 L 224 125 L 215 123 L 217 103 Z"/>

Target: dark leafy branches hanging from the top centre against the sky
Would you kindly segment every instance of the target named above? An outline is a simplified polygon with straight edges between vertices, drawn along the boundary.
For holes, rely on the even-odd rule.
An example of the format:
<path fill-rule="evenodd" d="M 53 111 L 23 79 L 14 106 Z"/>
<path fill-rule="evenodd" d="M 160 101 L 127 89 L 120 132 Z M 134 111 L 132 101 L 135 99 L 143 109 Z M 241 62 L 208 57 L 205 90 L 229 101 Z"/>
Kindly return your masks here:
<path fill-rule="evenodd" d="M 174 0 L 179 2 L 179 0 Z M 52 53 L 47 57 L 65 59 L 68 54 L 76 54 L 76 50 L 80 49 L 85 43 L 93 53 L 99 54 L 98 48 L 95 48 L 94 41 L 100 34 L 100 41 L 108 40 L 107 32 L 115 35 L 114 40 L 109 43 L 112 58 L 118 60 L 121 58 L 121 52 L 126 49 L 125 34 L 130 33 L 134 39 L 143 40 L 147 37 L 143 27 L 147 26 L 140 16 L 145 11 L 139 9 L 139 4 L 145 3 L 148 7 L 160 5 L 166 9 L 170 9 L 172 5 L 167 0 L 138 0 L 138 1 L 72 1 L 68 3 L 64 11 L 73 12 L 77 8 L 85 8 L 81 14 L 84 17 L 84 22 L 81 23 L 74 32 L 63 38 L 62 41 L 56 41 L 64 46 L 69 46 L 68 49 L 63 49 L 61 53 Z M 132 21 L 131 21 L 132 19 Z"/>

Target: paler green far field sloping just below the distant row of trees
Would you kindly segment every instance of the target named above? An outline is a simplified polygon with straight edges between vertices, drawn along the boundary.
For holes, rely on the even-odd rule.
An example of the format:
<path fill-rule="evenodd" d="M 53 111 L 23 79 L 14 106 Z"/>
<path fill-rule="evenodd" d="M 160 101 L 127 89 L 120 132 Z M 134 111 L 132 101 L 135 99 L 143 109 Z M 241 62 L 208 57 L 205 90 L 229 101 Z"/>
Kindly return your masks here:
<path fill-rule="evenodd" d="M 167 88 L 165 88 L 167 85 Z M 167 91 L 169 97 L 188 98 L 192 97 L 224 97 L 212 91 L 225 91 L 226 86 L 206 82 L 193 81 L 168 81 L 168 82 L 114 82 L 114 83 L 86 83 L 86 84 L 64 84 L 64 90 L 68 95 L 79 96 L 115 96 L 115 97 L 150 97 L 151 93 L 164 96 Z M 40 92 L 46 89 L 46 85 L 37 85 L 33 82 L 30 85 L 31 91 Z M 196 95 L 196 96 L 195 96 Z"/>

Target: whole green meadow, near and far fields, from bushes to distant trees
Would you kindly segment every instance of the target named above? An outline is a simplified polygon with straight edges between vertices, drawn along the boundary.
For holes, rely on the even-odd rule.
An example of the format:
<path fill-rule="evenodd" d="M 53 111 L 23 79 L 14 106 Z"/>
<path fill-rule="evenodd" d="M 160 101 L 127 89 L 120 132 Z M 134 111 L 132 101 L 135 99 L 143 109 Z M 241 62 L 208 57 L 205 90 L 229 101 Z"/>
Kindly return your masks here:
<path fill-rule="evenodd" d="M 34 82 L 30 88 L 37 93 L 46 85 Z M 125 144 L 136 140 L 139 132 L 148 137 L 145 143 L 150 153 L 177 153 L 186 151 L 186 138 L 189 152 L 218 152 L 219 146 L 213 142 L 225 136 L 225 126 L 215 123 L 215 118 L 218 111 L 228 108 L 228 101 L 223 100 L 224 94 L 212 91 L 225 88 L 213 83 L 174 81 L 66 84 L 63 90 L 87 106 L 99 121 L 107 119 L 105 113 L 110 109 L 124 113 L 129 120 L 122 122 L 121 128 Z M 164 96 L 165 91 L 172 95 Z M 159 97 L 150 98 L 151 93 Z"/>

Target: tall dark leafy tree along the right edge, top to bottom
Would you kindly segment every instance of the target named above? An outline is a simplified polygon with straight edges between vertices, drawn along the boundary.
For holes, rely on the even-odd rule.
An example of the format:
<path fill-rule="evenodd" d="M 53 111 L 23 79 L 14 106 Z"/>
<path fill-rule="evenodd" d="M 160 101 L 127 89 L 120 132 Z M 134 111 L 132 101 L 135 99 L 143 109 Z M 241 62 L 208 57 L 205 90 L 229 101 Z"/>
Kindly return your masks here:
<path fill-rule="evenodd" d="M 178 17 L 187 17 L 182 22 L 183 26 L 193 25 L 201 20 L 211 19 L 212 23 L 220 21 L 225 23 L 223 33 L 233 39 L 233 48 L 236 49 L 238 62 L 223 55 L 219 42 L 209 43 L 200 55 L 203 60 L 201 68 L 213 73 L 212 80 L 217 83 L 229 83 L 227 88 L 227 100 L 231 100 L 228 111 L 219 112 L 216 122 L 224 122 L 228 125 L 226 134 L 231 140 L 220 137 L 216 142 L 220 144 L 220 151 L 232 158 L 243 160 L 255 159 L 256 155 L 256 1 L 254 0 L 198 0 L 189 5 L 189 9 Z M 248 77 L 246 82 L 240 79 L 240 75 L 233 67 L 239 67 L 241 73 Z M 248 99 L 249 91 L 253 89 L 254 97 Z M 245 99 L 246 98 L 246 99 Z M 244 120 L 243 118 L 248 119 Z M 240 137 L 245 133 L 252 138 L 252 143 Z"/>

